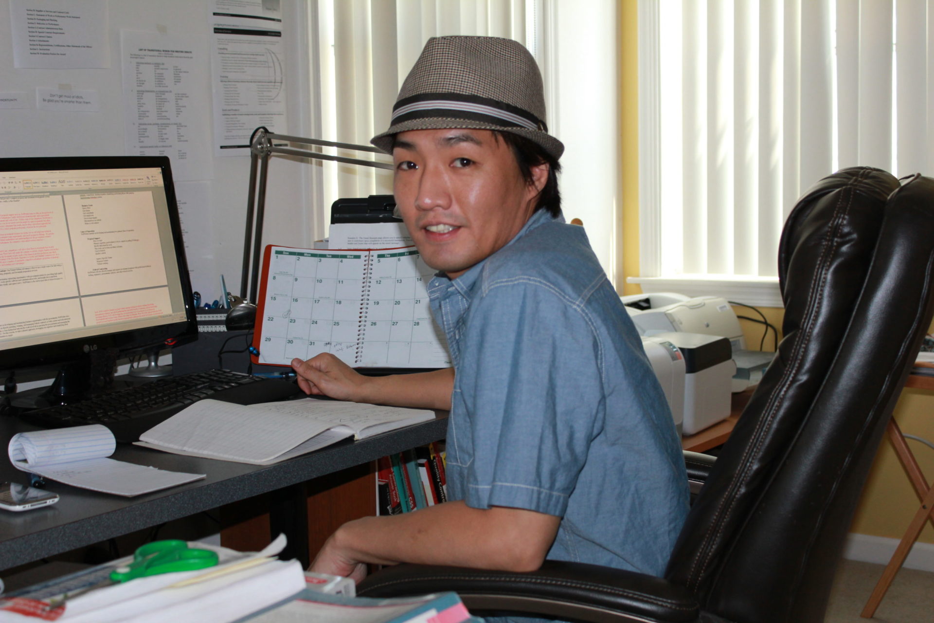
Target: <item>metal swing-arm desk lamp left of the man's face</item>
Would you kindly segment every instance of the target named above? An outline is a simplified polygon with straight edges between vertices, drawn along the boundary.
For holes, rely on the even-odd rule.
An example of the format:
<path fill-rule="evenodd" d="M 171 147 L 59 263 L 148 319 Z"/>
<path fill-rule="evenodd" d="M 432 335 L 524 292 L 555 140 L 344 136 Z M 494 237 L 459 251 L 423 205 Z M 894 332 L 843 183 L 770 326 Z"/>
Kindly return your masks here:
<path fill-rule="evenodd" d="M 252 329 L 256 319 L 256 298 L 260 282 L 260 245 L 262 244 L 262 218 L 266 205 L 266 178 L 269 172 L 269 157 L 274 153 L 288 156 L 299 156 L 313 160 L 331 160 L 337 163 L 361 164 L 377 169 L 392 170 L 392 164 L 373 160 L 346 158 L 313 151 L 312 149 L 297 149 L 287 147 L 285 144 L 274 144 L 274 141 L 284 141 L 289 144 L 313 145 L 318 147 L 333 147 L 338 149 L 351 149 L 354 151 L 369 151 L 383 153 L 369 145 L 352 145 L 349 143 L 334 143 L 318 138 L 303 138 L 301 136 L 276 135 L 263 126 L 253 131 L 249 138 L 249 194 L 247 197 L 247 227 L 243 242 L 243 272 L 240 277 L 240 301 L 233 302 L 227 312 L 225 325 L 230 331 L 238 329 Z M 259 173 L 259 175 L 257 175 Z"/>

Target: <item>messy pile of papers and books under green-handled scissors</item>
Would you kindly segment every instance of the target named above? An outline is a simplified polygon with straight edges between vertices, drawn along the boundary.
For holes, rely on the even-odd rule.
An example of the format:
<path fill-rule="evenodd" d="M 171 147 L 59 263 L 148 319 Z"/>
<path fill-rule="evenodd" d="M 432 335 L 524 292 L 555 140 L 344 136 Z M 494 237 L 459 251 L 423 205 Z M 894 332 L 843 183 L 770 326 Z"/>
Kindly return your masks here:
<path fill-rule="evenodd" d="M 285 544 L 279 535 L 261 552 L 244 554 L 191 543 L 216 551 L 219 564 L 97 588 L 131 558 L 113 560 L 0 599 L 0 623 L 482 623 L 452 592 L 389 600 L 355 597 L 346 577 L 303 573 L 297 560 L 275 559 Z"/>

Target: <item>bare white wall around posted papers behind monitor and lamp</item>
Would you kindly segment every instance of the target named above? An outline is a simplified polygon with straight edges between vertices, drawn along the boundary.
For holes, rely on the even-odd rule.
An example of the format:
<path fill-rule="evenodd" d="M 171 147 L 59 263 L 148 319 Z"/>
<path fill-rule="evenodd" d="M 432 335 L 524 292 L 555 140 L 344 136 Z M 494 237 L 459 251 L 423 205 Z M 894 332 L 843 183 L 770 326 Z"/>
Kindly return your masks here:
<path fill-rule="evenodd" d="M 0 0 L 0 92 L 27 92 L 31 108 L 0 110 L 0 157 L 103 156 L 125 154 L 123 142 L 123 99 L 120 71 L 120 30 L 156 33 L 191 42 L 196 58 L 205 64 L 210 76 L 208 3 L 206 0 L 118 0 L 106 2 L 110 67 L 107 69 L 15 69 L 10 37 L 9 0 Z M 286 50 L 285 78 L 288 128 L 283 134 L 307 136 L 310 128 L 308 105 L 308 39 L 305 28 L 308 3 L 282 3 L 283 38 Z M 73 89 L 95 90 L 101 97 L 101 111 L 51 112 L 35 109 L 35 88 L 57 88 L 70 84 Z M 210 102 L 210 83 L 203 86 L 204 101 Z M 197 140 L 211 145 L 210 106 L 199 111 Z M 213 153 L 213 150 L 211 151 Z M 212 158 L 204 178 L 210 182 L 210 210 L 213 223 L 213 252 L 230 290 L 239 291 L 243 234 L 249 181 L 248 156 Z M 313 210 L 309 205 L 308 184 L 313 167 L 275 157 L 270 166 L 267 215 L 263 244 L 294 247 L 310 246 L 323 232 L 314 232 Z M 320 221 L 320 219 L 318 219 Z M 191 245 L 196 241 L 189 240 Z M 218 279 L 205 288 L 205 297 L 219 294 Z M 195 284 L 195 288 L 202 288 Z M 218 290 L 215 292 L 214 290 Z"/>

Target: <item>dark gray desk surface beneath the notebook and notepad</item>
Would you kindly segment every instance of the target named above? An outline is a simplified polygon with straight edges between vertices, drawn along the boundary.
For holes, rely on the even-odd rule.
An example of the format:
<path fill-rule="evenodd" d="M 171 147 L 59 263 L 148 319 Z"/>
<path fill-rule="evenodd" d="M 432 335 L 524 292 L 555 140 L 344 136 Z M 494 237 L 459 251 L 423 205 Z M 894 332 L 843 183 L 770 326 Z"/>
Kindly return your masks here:
<path fill-rule="evenodd" d="M 446 412 L 437 412 L 436 418 L 430 422 L 358 442 L 342 442 L 269 466 L 182 457 L 119 444 L 114 459 L 207 474 L 207 477 L 134 498 L 96 493 L 50 481 L 47 488 L 62 498 L 58 503 L 22 513 L 0 510 L 0 570 L 437 441 L 445 436 L 446 415 Z M 14 418 L 0 420 L 0 440 L 4 447 L 16 432 L 32 430 L 35 427 Z M 29 476 L 4 458 L 0 460 L 0 480 L 28 484 Z"/>

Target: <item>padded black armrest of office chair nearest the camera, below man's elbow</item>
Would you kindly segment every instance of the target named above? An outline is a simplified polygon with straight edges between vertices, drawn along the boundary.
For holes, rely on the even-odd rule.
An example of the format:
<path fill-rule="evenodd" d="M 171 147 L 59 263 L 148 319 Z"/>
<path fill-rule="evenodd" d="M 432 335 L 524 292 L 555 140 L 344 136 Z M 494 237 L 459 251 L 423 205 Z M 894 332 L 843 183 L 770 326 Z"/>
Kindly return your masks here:
<path fill-rule="evenodd" d="M 365 597 L 403 597 L 454 590 L 472 612 L 558 616 L 580 621 L 697 621 L 686 588 L 659 577 L 581 562 L 545 560 L 532 573 L 401 564 L 357 587 Z"/>

